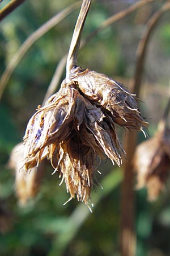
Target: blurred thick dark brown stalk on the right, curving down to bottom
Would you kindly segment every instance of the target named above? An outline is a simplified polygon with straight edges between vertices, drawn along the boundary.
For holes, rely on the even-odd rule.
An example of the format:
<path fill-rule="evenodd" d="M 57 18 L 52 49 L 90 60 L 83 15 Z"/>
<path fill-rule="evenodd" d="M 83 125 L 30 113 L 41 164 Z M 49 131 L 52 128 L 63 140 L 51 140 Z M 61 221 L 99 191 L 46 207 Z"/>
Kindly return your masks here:
<path fill-rule="evenodd" d="M 134 81 L 130 84 L 131 93 L 137 94 L 141 88 L 141 81 L 143 75 L 143 65 L 145 63 L 145 57 L 147 52 L 147 45 L 151 37 L 151 32 L 156 27 L 160 17 L 170 9 L 170 3 L 167 2 L 161 9 L 156 11 L 151 16 L 150 20 L 146 24 L 145 32 L 142 39 L 138 44 L 137 49 L 137 65 L 135 69 Z M 137 144 L 137 133 L 135 131 L 128 131 L 126 133 L 124 148 L 126 151 L 127 161 L 124 162 L 124 181 L 122 183 L 121 191 L 121 255 L 122 256 L 134 256 L 136 235 L 134 230 L 134 175 L 131 159 L 133 158 L 135 147 Z"/>

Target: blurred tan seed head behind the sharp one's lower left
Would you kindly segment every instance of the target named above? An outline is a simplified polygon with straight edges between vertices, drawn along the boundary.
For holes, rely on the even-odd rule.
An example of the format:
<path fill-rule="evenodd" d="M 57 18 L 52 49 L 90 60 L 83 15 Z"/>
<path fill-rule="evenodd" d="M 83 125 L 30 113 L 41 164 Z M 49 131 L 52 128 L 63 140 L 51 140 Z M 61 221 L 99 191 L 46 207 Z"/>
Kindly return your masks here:
<path fill-rule="evenodd" d="M 33 167 L 25 172 L 24 169 L 24 146 L 17 144 L 10 156 L 9 167 L 15 170 L 15 190 L 19 203 L 24 205 L 28 199 L 36 196 L 39 191 L 42 168 Z"/>

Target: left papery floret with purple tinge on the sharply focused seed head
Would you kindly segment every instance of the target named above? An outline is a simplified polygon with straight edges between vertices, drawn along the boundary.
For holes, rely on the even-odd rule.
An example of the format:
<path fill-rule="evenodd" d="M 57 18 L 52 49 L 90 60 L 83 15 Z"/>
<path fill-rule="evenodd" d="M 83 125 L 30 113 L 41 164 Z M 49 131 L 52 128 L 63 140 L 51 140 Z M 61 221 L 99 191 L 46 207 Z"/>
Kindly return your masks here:
<path fill-rule="evenodd" d="M 71 86 L 62 87 L 32 116 L 24 136 L 26 157 L 33 157 L 45 146 L 60 143 L 69 136 L 73 129 L 75 108 L 79 105 L 76 101 L 78 94 Z M 83 108 L 81 114 L 78 126 L 83 119 Z"/>

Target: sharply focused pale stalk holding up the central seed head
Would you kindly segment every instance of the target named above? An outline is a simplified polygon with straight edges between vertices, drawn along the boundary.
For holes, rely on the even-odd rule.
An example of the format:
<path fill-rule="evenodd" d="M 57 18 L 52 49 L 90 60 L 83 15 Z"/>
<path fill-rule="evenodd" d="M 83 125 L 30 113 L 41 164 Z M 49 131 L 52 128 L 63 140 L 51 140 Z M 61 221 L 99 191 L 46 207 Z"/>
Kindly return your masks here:
<path fill-rule="evenodd" d="M 71 39 L 69 54 L 67 57 L 66 81 L 69 81 L 70 71 L 74 67 L 74 65 L 77 64 L 77 56 L 78 56 L 78 51 L 80 46 L 81 34 L 83 31 L 83 26 L 86 20 L 88 10 L 90 9 L 90 5 L 91 5 L 91 0 L 83 0 L 78 19 L 76 20 L 73 37 Z"/>

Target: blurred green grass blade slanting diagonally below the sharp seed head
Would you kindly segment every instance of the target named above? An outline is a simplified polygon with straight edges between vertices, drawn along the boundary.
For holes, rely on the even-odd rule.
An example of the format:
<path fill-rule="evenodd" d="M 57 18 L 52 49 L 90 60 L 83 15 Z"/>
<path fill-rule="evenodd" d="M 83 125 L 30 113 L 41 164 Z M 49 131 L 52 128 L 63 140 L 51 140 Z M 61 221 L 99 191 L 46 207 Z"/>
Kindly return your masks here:
<path fill-rule="evenodd" d="M 120 168 L 116 168 L 110 172 L 101 181 L 101 186 L 104 189 L 98 187 L 96 192 L 92 192 L 91 198 L 95 204 L 99 203 L 103 197 L 109 195 L 122 181 L 122 172 Z M 94 208 L 95 210 L 95 208 Z M 61 233 L 57 233 L 54 238 L 52 249 L 49 251 L 48 256 L 61 256 L 66 247 L 73 240 L 78 233 L 78 230 L 86 221 L 87 217 L 91 214 L 90 210 L 84 204 L 79 204 L 78 207 L 71 214 L 70 218 L 65 222 Z"/>

